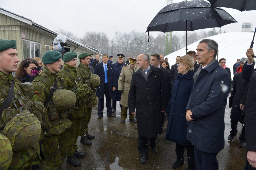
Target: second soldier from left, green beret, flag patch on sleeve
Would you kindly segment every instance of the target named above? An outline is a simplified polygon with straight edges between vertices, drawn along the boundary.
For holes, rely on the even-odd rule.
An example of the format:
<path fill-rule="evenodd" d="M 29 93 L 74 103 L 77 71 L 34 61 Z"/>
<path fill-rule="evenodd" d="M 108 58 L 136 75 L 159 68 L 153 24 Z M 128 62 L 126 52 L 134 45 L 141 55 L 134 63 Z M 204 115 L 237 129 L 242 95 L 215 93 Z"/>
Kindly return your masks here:
<path fill-rule="evenodd" d="M 33 99 L 44 103 L 47 109 L 47 121 L 50 127 L 44 129 L 44 143 L 42 150 L 45 156 L 43 169 L 60 169 L 67 156 L 66 129 L 72 122 L 68 114 L 72 111 L 58 111 L 53 103 L 53 93 L 57 89 L 66 89 L 65 82 L 58 74 L 61 66 L 62 54 L 57 51 L 47 51 L 43 57 L 44 70 L 33 81 Z M 70 97 L 70 96 L 67 96 Z M 72 100 L 72 99 L 71 99 Z"/>

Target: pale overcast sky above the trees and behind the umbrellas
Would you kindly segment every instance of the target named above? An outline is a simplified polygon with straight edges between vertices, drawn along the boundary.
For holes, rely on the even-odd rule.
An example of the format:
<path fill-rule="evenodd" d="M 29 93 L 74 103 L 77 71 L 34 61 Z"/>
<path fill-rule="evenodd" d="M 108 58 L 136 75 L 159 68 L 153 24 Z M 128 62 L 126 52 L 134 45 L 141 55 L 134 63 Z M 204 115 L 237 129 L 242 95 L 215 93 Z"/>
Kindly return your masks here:
<path fill-rule="evenodd" d="M 173 0 L 176 2 L 181 0 Z M 78 37 L 83 37 L 87 31 L 106 32 L 109 38 L 116 30 L 122 33 L 132 30 L 145 32 L 154 16 L 165 6 L 166 0 L 0 1 L 1 8 L 23 15 L 50 30 L 62 28 Z M 223 32 L 240 32 L 243 22 L 253 22 L 255 28 L 256 11 L 223 9 L 238 21 L 221 27 Z"/>

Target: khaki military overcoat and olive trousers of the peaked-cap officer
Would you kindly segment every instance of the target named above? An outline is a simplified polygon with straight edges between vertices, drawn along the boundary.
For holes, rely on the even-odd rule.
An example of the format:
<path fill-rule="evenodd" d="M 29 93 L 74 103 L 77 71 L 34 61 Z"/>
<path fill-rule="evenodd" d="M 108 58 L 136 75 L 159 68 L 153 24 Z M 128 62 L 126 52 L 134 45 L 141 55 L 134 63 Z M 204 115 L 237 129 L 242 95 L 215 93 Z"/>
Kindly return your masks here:
<path fill-rule="evenodd" d="M 130 68 L 130 66 L 124 66 L 121 70 L 119 79 L 118 79 L 118 90 L 122 90 L 122 96 L 120 100 L 120 104 L 123 106 L 121 110 L 121 119 L 125 120 L 127 118 L 127 110 L 128 110 L 128 94 L 130 90 L 130 85 L 132 82 L 132 74 L 138 71 L 139 68 L 136 65 L 134 71 Z M 130 114 L 129 119 L 134 119 L 134 115 Z"/>

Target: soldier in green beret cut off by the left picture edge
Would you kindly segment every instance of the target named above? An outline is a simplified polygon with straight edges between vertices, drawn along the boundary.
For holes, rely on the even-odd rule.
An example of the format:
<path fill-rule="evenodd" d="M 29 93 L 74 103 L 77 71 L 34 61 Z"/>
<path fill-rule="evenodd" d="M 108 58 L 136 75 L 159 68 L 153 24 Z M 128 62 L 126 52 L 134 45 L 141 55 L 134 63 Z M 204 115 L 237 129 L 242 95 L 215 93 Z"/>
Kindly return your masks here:
<path fill-rule="evenodd" d="M 31 109 L 30 99 L 23 92 L 22 85 L 17 78 L 14 78 L 11 73 L 17 70 L 18 52 L 16 50 L 16 40 L 4 40 L 0 39 L 0 133 L 3 133 L 5 125 L 11 118 L 22 112 L 24 109 L 33 112 Z M 12 87 L 13 86 L 13 87 Z M 12 88 L 11 88 L 12 87 Z M 13 89 L 13 91 L 12 91 Z M 10 94 L 10 96 L 8 95 Z M 10 99 L 10 100 L 9 100 Z M 9 102 L 8 102 L 9 100 Z M 23 107 L 20 107 L 20 103 Z M 19 107 L 19 108 L 18 108 Z M 5 110 L 4 110 L 5 109 Z M 2 143 L 3 144 L 3 143 Z M 32 147 L 26 150 L 15 151 L 13 150 L 13 156 L 11 158 L 10 147 L 7 145 L 1 146 L 9 155 L 10 166 L 7 162 L 2 162 L 4 158 L 0 156 L 0 162 L 4 165 L 0 166 L 0 169 L 26 169 L 31 168 L 32 165 L 37 165 L 40 162 L 39 156 L 39 142 L 36 142 Z M 7 156 L 5 155 L 5 156 Z M 8 157 L 8 156 L 7 156 Z"/>

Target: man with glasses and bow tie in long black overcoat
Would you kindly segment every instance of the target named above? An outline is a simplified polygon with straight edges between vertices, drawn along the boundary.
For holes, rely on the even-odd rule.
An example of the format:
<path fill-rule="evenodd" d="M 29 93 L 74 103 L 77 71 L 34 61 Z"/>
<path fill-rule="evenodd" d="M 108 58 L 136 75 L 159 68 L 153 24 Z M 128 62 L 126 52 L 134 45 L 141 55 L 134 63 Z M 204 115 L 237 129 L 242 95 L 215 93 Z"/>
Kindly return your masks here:
<path fill-rule="evenodd" d="M 138 150 L 141 163 L 147 162 L 148 138 L 152 152 L 158 153 L 155 140 L 163 132 L 161 113 L 164 113 L 168 104 L 163 70 L 151 66 L 149 61 L 147 54 L 138 55 L 137 65 L 140 69 L 132 74 L 128 96 L 129 111 L 133 115 L 136 114 L 138 123 Z"/>

